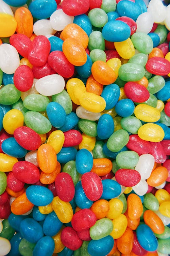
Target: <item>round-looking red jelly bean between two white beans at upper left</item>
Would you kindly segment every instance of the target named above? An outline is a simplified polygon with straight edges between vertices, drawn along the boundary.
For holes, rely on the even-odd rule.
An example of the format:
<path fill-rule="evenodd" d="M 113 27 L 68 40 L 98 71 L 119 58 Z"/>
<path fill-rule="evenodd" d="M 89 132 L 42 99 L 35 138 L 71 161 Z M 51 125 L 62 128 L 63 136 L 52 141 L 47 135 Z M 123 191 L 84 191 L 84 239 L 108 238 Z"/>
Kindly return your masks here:
<path fill-rule="evenodd" d="M 14 73 L 14 85 L 19 91 L 28 91 L 33 84 L 34 75 L 27 65 L 19 66 Z"/>

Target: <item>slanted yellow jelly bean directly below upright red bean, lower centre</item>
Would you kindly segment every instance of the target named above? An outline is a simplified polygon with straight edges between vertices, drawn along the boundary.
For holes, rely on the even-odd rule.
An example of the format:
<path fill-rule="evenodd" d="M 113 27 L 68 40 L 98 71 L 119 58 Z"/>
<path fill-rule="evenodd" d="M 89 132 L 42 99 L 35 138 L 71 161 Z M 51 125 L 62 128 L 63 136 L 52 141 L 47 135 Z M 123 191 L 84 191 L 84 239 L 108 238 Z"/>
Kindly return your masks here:
<path fill-rule="evenodd" d="M 73 209 L 69 202 L 65 202 L 56 196 L 53 198 L 51 205 L 61 222 L 68 223 L 71 221 L 73 216 Z"/>

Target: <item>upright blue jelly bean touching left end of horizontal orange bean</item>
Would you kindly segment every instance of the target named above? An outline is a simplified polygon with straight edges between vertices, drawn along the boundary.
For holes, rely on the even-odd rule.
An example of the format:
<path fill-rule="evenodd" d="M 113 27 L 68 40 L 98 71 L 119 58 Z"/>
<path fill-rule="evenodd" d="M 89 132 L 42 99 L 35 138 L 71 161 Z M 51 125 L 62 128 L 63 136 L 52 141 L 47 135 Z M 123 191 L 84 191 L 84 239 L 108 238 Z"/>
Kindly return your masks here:
<path fill-rule="evenodd" d="M 76 170 L 81 174 L 91 171 L 93 167 L 93 157 L 86 148 L 82 148 L 78 151 L 75 157 L 75 166 Z"/>

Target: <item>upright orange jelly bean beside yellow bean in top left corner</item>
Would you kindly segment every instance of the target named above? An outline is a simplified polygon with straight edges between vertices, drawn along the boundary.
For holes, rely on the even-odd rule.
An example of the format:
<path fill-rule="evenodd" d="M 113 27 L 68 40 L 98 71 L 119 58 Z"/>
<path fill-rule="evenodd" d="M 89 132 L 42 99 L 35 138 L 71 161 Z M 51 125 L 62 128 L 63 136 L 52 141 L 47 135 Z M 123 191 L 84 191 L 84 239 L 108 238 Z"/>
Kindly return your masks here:
<path fill-rule="evenodd" d="M 17 21 L 16 32 L 31 37 L 33 32 L 33 16 L 31 12 L 25 7 L 20 7 L 16 10 L 14 17 Z"/>

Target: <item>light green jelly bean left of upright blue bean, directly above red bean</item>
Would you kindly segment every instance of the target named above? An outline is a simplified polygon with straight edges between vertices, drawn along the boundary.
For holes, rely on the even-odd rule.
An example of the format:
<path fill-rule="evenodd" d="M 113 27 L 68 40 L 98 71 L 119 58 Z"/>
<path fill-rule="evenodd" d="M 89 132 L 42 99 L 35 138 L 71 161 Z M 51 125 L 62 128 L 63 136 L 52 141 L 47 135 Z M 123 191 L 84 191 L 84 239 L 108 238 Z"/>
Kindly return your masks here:
<path fill-rule="evenodd" d="M 25 124 L 39 134 L 45 134 L 52 128 L 50 121 L 36 111 L 28 111 L 24 115 Z"/>

